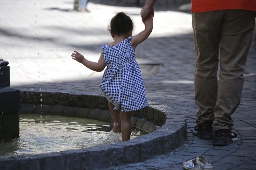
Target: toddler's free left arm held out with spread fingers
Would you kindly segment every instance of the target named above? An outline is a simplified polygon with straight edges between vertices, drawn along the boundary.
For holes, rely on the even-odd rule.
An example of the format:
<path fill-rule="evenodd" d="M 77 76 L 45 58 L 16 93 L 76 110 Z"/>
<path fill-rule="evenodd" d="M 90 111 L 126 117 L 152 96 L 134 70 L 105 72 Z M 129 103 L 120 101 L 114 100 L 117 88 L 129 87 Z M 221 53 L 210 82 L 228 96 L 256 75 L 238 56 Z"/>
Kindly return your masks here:
<path fill-rule="evenodd" d="M 79 63 L 84 64 L 84 66 L 86 66 L 87 68 L 97 71 L 97 72 L 101 72 L 102 70 L 104 70 L 106 63 L 103 57 L 103 53 L 101 52 L 100 55 L 100 59 L 98 61 L 98 63 L 93 62 L 93 61 L 89 61 L 87 59 L 84 58 L 84 56 L 80 53 L 78 53 L 77 51 L 74 51 L 75 53 L 72 53 L 72 59 L 76 60 Z"/>

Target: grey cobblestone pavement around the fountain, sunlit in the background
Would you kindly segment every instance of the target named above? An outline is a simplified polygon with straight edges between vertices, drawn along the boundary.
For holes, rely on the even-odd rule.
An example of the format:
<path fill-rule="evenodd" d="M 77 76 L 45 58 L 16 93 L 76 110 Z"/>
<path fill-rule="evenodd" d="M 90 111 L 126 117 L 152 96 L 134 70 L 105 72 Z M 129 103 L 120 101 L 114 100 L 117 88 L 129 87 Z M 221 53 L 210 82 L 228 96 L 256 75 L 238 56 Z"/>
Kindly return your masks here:
<path fill-rule="evenodd" d="M 97 61 L 100 44 L 112 41 L 107 25 L 117 12 L 124 11 L 132 17 L 134 34 L 144 25 L 140 8 L 93 2 L 88 3 L 90 13 L 80 13 L 72 10 L 72 0 L 0 1 L 0 58 L 10 63 L 11 86 L 42 92 L 101 93 L 98 84 L 102 72 L 93 72 L 73 61 L 72 51 Z M 137 47 L 136 56 L 139 64 L 163 64 L 153 78 L 143 74 L 147 97 L 186 115 L 188 141 L 173 152 L 109 169 L 182 169 L 181 162 L 198 155 L 204 155 L 217 170 L 255 169 L 256 49 L 253 44 L 248 54 L 241 104 L 233 114 L 239 141 L 226 147 L 213 147 L 211 140 L 201 140 L 191 133 L 197 109 L 191 15 L 156 11 L 152 35 Z"/>

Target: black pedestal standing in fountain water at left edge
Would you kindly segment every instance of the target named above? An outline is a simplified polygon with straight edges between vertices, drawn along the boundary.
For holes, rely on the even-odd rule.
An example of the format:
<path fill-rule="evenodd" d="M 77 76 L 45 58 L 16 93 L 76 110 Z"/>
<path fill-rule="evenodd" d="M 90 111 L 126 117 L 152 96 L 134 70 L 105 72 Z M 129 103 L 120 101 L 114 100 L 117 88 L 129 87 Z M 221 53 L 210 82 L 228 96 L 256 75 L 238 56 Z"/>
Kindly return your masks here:
<path fill-rule="evenodd" d="M 0 59 L 0 143 L 19 137 L 20 90 L 10 87 L 8 61 Z"/>

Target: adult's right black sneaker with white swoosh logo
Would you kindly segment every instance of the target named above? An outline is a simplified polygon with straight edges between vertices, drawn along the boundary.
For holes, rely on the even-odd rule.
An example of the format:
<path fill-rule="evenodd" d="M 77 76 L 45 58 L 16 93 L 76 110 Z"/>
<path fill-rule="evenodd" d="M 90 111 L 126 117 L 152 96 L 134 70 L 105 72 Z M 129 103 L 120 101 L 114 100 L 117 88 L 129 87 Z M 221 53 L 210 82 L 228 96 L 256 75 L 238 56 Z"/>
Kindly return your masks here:
<path fill-rule="evenodd" d="M 226 146 L 238 141 L 236 133 L 230 129 L 219 129 L 214 131 L 213 145 Z"/>

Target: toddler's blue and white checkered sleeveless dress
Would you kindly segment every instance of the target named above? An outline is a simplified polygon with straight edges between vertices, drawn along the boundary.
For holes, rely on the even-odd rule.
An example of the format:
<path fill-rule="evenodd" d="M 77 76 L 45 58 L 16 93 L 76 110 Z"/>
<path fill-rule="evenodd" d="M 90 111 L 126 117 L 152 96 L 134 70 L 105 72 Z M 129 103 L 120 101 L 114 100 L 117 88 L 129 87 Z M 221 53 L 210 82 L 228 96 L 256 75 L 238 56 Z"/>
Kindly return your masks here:
<path fill-rule="evenodd" d="M 121 111 L 135 111 L 148 106 L 144 82 L 135 53 L 132 49 L 132 36 L 117 45 L 102 44 L 106 62 L 100 88 L 104 96 Z"/>

